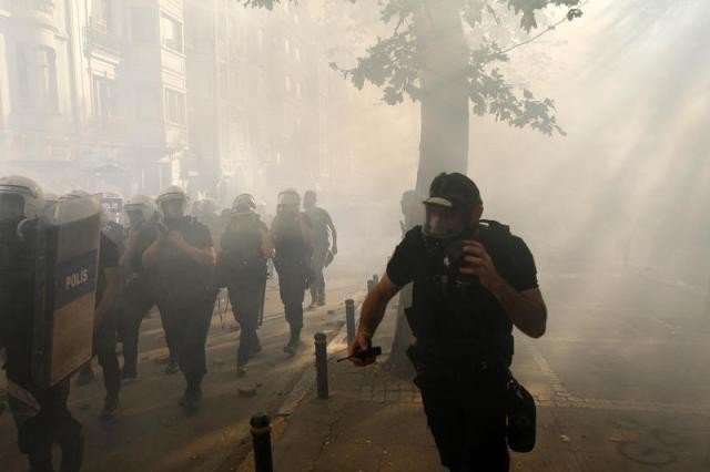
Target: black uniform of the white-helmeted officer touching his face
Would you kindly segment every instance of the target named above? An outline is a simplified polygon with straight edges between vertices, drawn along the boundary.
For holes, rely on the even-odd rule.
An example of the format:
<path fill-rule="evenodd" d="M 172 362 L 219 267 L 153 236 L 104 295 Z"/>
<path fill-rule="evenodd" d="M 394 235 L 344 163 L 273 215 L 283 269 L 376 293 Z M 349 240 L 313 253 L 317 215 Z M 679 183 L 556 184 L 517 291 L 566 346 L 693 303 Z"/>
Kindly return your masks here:
<path fill-rule="evenodd" d="M 212 247 L 207 227 L 195 218 L 165 218 L 165 226 L 179 232 L 193 247 Z M 159 249 L 154 269 L 156 301 L 164 316 L 165 336 L 174 343 L 180 369 L 187 381 L 185 393 L 199 396 L 202 378 L 207 372 L 205 342 L 216 299 L 213 268 L 165 243 Z"/>

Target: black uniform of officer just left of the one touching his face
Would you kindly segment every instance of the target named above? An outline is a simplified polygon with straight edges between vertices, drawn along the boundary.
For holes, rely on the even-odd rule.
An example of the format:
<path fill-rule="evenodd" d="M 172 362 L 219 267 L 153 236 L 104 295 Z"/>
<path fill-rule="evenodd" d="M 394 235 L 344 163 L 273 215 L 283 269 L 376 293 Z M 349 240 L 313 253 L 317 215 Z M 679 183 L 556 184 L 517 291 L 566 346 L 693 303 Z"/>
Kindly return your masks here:
<path fill-rule="evenodd" d="M 120 332 L 123 338 L 123 374 L 126 377 L 136 374 L 141 322 L 154 305 L 152 278 L 143 267 L 142 259 L 143 253 L 158 236 L 158 226 L 154 223 L 142 223 L 134 230 L 138 232 L 138 242 L 133 258 L 128 261 L 128 274 L 122 291 L 123 311 L 120 320 Z"/>

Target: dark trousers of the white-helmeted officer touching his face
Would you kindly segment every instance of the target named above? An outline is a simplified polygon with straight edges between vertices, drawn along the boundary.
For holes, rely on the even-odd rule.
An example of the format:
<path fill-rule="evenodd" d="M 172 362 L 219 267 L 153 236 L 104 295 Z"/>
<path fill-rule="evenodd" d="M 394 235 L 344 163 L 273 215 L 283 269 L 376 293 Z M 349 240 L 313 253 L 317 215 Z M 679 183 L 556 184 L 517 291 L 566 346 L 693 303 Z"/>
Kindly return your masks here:
<path fill-rule="evenodd" d="M 173 343 L 178 363 L 187 381 L 187 389 L 199 389 L 207 372 L 205 343 L 214 311 L 215 291 L 181 295 L 181 302 L 170 298 L 161 310 L 168 342 Z M 164 311 L 164 312 L 163 312 Z"/>

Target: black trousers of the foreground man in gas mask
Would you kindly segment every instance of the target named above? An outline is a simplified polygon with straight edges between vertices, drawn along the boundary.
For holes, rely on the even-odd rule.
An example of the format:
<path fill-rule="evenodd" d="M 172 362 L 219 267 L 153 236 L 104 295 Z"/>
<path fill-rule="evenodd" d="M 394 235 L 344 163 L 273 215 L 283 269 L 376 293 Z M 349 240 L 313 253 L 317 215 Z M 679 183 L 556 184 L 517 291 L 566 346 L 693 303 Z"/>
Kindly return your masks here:
<path fill-rule="evenodd" d="M 500 371 L 445 379 L 419 372 L 427 422 L 442 464 L 453 472 L 506 472 L 506 380 Z"/>

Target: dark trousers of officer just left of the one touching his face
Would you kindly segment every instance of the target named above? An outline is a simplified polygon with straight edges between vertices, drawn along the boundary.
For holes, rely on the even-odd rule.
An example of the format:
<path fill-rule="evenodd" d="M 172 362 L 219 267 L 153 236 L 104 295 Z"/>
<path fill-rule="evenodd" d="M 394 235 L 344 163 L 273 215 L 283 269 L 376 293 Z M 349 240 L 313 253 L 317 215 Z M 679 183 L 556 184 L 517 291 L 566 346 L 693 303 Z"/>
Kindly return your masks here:
<path fill-rule="evenodd" d="M 126 372 L 135 372 L 138 369 L 141 324 L 153 307 L 150 288 L 141 287 L 140 284 L 140 281 L 131 284 L 131 289 L 123 293 L 123 311 L 119 328 L 123 338 L 123 370 Z"/>

